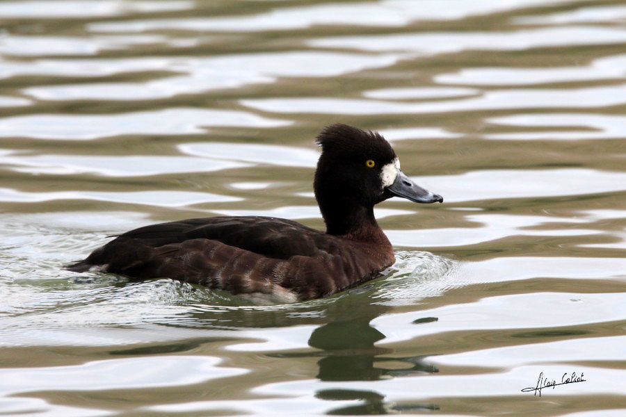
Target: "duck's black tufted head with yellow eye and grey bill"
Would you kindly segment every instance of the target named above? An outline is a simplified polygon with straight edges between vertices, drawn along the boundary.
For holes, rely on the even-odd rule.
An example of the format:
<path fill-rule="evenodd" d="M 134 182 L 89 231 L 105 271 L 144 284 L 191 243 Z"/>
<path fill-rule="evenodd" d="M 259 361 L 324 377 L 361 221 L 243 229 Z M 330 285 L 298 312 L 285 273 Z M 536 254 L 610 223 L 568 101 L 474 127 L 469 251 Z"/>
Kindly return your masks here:
<path fill-rule="evenodd" d="M 390 197 L 417 203 L 443 202 L 400 169 L 390 143 L 379 133 L 333 124 L 316 138 L 322 153 L 315 172 L 315 197 L 329 234 L 348 234 L 376 223 L 374 205 Z"/>

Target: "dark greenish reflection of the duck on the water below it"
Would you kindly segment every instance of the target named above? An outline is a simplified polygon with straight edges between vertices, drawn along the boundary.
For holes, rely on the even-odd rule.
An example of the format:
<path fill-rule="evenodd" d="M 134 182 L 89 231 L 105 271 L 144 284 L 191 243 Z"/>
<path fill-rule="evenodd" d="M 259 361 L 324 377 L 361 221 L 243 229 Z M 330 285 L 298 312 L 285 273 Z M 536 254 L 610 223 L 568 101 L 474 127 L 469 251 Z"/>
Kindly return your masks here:
<path fill-rule="evenodd" d="M 320 357 L 316 378 L 323 382 L 376 381 L 392 377 L 407 377 L 438 373 L 436 366 L 424 360 L 431 352 L 417 356 L 394 356 L 394 350 L 378 347 L 385 334 L 371 325 L 371 320 L 390 308 L 371 302 L 371 291 L 342 298 L 329 306 L 329 316 L 337 320 L 316 328 L 308 341 L 318 351 L 306 353 L 268 354 L 271 357 Z M 436 320 L 436 319 L 435 319 Z M 423 322 L 430 322 L 424 320 Z M 419 321 L 416 321 L 419 325 Z M 418 348 L 419 349 L 419 348 Z M 389 363 L 390 366 L 385 366 Z M 372 385 L 376 387 L 375 384 Z M 323 389 L 316 398 L 330 401 L 360 400 L 363 403 L 331 411 L 331 414 L 387 414 L 408 410 L 438 409 L 436 404 L 392 404 L 376 391 L 357 389 Z"/>

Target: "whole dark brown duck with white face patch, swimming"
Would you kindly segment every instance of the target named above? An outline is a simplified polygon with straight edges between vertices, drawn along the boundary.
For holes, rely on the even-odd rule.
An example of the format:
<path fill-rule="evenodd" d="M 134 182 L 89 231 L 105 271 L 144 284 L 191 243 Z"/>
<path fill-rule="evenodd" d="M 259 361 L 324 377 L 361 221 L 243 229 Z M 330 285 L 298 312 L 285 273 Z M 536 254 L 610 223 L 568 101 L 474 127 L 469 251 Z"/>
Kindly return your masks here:
<path fill-rule="evenodd" d="M 443 197 L 403 174 L 380 133 L 332 124 L 316 143 L 313 188 L 325 231 L 263 216 L 178 220 L 111 236 L 66 269 L 169 278 L 284 302 L 328 297 L 374 279 L 395 262 L 374 206 L 391 197 L 422 204 Z"/>

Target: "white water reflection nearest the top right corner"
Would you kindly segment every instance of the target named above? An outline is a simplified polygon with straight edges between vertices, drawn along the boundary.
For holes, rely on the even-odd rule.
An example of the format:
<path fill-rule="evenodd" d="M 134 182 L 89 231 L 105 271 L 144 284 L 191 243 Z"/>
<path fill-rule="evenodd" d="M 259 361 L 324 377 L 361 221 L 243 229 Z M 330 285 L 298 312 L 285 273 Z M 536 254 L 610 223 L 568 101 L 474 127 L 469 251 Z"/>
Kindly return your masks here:
<path fill-rule="evenodd" d="M 626 19 L 626 6 L 591 6 L 548 15 L 519 16 L 515 24 L 576 24 L 576 23 L 622 23 Z"/>

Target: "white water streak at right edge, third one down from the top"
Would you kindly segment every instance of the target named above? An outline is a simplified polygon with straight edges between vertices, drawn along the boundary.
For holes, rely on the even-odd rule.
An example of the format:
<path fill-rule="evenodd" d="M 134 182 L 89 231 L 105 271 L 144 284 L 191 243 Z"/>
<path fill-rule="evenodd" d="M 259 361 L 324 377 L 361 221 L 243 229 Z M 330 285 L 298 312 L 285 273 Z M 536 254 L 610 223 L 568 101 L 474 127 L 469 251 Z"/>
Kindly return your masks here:
<path fill-rule="evenodd" d="M 623 79 L 626 55 L 597 58 L 589 65 L 545 68 L 463 68 L 454 74 L 439 74 L 435 82 L 465 85 L 531 85 Z"/>

